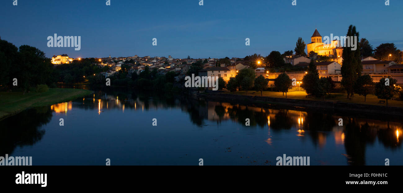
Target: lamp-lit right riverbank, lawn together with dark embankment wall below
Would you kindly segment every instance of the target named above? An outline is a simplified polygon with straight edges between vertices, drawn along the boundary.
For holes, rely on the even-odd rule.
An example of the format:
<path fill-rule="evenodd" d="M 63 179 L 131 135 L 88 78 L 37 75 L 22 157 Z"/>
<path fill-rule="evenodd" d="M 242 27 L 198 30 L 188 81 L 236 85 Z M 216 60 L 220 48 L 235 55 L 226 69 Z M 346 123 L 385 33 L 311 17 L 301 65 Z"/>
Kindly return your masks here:
<path fill-rule="evenodd" d="M 379 99 L 373 95 L 367 96 L 367 102 L 364 102 L 363 96 L 356 95 L 353 100 L 347 100 L 343 97 L 343 93 L 332 93 L 331 97 L 325 98 L 323 101 L 320 98 L 305 98 L 305 92 L 289 92 L 287 98 L 283 93 L 264 91 L 263 96 L 260 92 L 252 94 L 254 91 L 249 91 L 246 95 L 245 91 L 224 92 L 224 93 L 208 93 L 202 94 L 202 98 L 210 98 L 217 100 L 225 100 L 227 102 L 247 102 L 249 104 L 276 104 L 283 106 L 303 107 L 303 108 L 321 108 L 346 110 L 366 113 L 382 113 L 403 115 L 403 102 L 389 100 L 389 106 L 379 104 Z"/>

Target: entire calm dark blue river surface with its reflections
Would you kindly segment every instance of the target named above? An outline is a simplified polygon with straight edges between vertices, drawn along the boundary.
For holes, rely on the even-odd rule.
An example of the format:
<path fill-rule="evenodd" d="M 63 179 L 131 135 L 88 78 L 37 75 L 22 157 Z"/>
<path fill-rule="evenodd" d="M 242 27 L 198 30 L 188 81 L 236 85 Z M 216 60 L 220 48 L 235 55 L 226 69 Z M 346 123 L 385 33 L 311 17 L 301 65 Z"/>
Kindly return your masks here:
<path fill-rule="evenodd" d="M 32 156 L 33 165 L 275 165 L 287 154 L 310 156 L 310 165 L 403 165 L 402 120 L 96 91 L 0 121 L 0 156 Z"/>

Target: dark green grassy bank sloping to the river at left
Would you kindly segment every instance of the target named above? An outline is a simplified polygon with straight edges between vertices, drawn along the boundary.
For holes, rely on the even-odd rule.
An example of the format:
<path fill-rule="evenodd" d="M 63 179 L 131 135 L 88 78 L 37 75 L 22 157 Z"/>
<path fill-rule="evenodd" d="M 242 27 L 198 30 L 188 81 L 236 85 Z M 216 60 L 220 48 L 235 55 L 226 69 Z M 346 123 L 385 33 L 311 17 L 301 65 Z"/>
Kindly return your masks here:
<path fill-rule="evenodd" d="M 48 92 L 0 92 L 0 119 L 27 108 L 66 102 L 92 93 L 83 89 L 50 88 Z"/>

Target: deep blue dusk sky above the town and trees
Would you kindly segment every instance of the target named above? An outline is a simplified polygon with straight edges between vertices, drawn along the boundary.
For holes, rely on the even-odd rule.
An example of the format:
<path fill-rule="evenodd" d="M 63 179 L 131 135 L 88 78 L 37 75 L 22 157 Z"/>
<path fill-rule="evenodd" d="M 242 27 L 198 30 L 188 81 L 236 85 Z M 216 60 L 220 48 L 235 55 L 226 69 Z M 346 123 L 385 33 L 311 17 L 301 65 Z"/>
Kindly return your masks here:
<path fill-rule="evenodd" d="M 0 2 L 0 36 L 47 57 L 245 57 L 294 50 L 298 37 L 346 35 L 403 50 L 402 0 L 12 0 Z M 47 47 L 48 36 L 81 36 L 81 50 Z M 158 45 L 152 46 L 152 39 Z M 251 45 L 245 46 L 245 38 Z"/>

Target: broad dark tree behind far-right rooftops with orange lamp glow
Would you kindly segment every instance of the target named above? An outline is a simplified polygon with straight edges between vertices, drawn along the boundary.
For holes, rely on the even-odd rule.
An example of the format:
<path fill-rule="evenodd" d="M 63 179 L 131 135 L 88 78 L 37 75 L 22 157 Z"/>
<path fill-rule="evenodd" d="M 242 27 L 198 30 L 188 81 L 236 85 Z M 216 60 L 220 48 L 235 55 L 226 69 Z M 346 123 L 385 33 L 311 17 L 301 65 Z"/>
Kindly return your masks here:
<path fill-rule="evenodd" d="M 396 49 L 394 43 L 384 43 L 376 47 L 374 57 L 382 61 L 395 61 L 399 63 L 401 61 L 399 58 L 401 55 L 400 52 L 400 50 Z"/>

